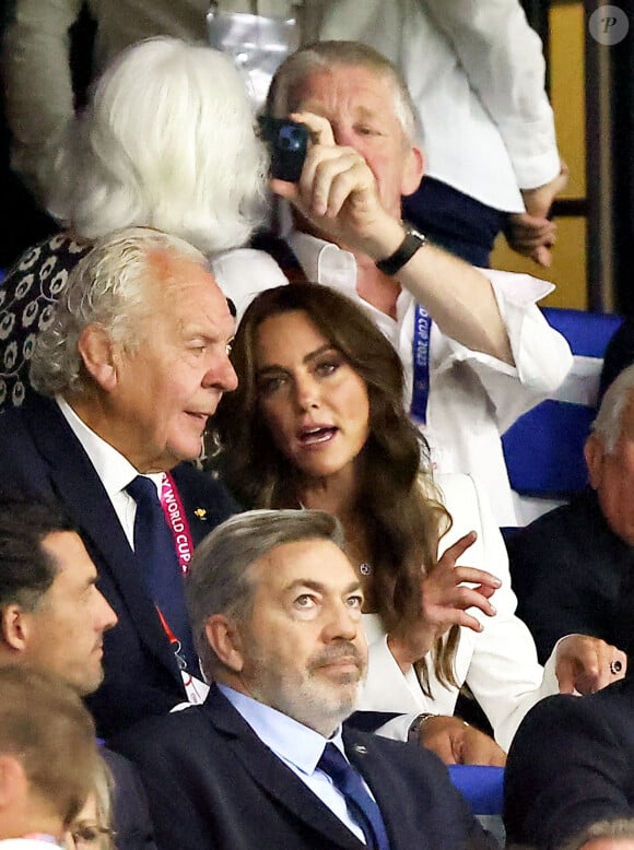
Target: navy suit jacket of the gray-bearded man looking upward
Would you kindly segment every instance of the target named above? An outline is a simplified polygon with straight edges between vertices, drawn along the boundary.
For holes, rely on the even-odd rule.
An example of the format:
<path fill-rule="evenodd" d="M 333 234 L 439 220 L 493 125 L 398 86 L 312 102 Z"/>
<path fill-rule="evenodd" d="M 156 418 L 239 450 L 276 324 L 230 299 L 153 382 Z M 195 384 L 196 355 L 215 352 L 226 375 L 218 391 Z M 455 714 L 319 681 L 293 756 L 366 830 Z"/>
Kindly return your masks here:
<path fill-rule="evenodd" d="M 435 755 L 352 729 L 343 740 L 391 850 L 497 847 Z M 213 686 L 204 705 L 149 718 L 113 745 L 137 764 L 158 850 L 364 848 Z"/>

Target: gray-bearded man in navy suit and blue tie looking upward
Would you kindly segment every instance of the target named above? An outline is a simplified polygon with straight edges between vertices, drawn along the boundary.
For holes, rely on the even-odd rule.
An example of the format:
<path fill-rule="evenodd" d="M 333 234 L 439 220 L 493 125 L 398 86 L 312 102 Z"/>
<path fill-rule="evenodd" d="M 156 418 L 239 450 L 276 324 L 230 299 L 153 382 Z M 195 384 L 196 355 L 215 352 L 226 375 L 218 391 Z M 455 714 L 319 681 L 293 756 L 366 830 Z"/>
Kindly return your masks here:
<path fill-rule="evenodd" d="M 341 730 L 367 646 L 333 517 L 230 519 L 197 548 L 187 598 L 207 701 L 115 741 L 140 769 L 160 850 L 495 847 L 433 754 Z"/>

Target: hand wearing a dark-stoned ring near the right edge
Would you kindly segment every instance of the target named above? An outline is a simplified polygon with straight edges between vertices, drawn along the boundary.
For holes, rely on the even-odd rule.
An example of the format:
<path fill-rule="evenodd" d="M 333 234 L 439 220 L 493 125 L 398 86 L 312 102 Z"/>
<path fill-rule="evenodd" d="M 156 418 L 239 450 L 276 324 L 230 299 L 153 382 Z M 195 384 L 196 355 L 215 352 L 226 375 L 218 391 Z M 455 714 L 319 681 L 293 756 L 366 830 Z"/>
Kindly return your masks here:
<path fill-rule="evenodd" d="M 555 649 L 555 674 L 560 693 L 594 694 L 623 678 L 627 656 L 600 638 L 567 635 Z"/>

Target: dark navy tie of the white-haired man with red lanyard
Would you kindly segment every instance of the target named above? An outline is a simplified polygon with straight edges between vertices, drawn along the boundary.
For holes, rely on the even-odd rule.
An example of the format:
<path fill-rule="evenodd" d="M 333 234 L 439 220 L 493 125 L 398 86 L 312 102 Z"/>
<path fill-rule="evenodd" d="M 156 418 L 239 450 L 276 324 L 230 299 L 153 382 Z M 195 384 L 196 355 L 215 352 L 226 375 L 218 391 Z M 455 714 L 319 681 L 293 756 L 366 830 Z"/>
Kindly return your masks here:
<path fill-rule="evenodd" d="M 175 647 L 179 665 L 192 675 L 200 675 L 174 536 L 156 486 L 145 475 L 137 475 L 126 489 L 137 503 L 134 554 L 143 567 L 148 590 L 179 645 Z"/>

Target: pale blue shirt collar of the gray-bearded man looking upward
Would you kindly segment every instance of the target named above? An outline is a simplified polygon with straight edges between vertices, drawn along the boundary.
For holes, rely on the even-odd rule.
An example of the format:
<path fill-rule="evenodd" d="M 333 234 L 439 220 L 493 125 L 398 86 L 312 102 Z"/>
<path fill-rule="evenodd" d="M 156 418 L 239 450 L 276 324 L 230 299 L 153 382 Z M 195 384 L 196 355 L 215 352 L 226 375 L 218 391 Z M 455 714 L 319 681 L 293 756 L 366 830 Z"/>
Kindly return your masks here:
<path fill-rule="evenodd" d="M 341 727 L 330 739 L 293 720 L 257 699 L 240 694 L 227 685 L 218 685 L 219 690 L 251 727 L 257 736 L 283 762 L 294 765 L 303 774 L 315 772 L 324 747 L 332 743 L 345 757 Z"/>

